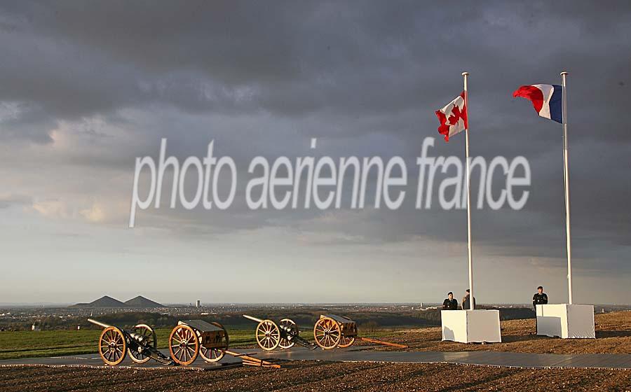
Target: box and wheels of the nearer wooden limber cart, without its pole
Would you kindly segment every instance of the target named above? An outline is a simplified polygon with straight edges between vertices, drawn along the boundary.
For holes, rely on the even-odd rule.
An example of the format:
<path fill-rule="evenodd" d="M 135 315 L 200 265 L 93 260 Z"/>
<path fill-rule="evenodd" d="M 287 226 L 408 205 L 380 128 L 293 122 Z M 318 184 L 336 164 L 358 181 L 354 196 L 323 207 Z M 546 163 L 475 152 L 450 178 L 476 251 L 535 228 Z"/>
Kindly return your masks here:
<path fill-rule="evenodd" d="M 206 362 L 217 362 L 224 357 L 228 342 L 228 332 L 219 323 L 178 321 L 169 335 L 169 352 L 178 365 L 190 365 L 198 355 Z"/>

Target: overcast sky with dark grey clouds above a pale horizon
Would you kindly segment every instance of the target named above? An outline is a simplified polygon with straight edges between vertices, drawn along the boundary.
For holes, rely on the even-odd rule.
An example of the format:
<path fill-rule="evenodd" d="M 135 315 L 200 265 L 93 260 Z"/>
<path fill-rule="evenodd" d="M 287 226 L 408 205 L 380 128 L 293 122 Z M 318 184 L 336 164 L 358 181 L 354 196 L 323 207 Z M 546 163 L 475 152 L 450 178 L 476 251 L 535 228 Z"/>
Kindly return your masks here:
<path fill-rule="evenodd" d="M 463 210 L 243 200 L 256 155 L 399 155 L 410 179 L 425 137 L 462 157 L 434 115 L 462 71 L 471 154 L 523 155 L 532 177 L 521 211 L 473 211 L 477 302 L 529 302 L 540 284 L 566 302 L 562 127 L 512 92 L 567 70 L 574 302 L 630 303 L 630 20 L 627 1 L 0 3 L 0 302 L 461 297 Z M 215 140 L 236 161 L 230 209 L 127 227 L 135 158 L 163 137 L 170 155 Z"/>

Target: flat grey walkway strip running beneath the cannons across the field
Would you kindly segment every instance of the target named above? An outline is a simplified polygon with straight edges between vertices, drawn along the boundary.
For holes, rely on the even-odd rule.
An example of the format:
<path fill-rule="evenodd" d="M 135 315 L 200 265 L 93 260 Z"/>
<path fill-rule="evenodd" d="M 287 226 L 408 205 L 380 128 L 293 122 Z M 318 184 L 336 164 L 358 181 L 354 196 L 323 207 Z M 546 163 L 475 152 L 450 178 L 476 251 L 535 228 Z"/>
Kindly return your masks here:
<path fill-rule="evenodd" d="M 371 351 L 369 346 L 350 347 L 324 351 L 294 347 L 283 351 L 262 351 L 260 349 L 232 350 L 249 354 L 264 360 L 327 360 L 332 362 L 379 362 L 379 363 L 453 363 L 459 365 L 483 365 L 517 368 L 592 368 L 629 369 L 631 354 L 536 354 L 500 351 Z M 125 358 L 119 367 L 144 369 L 170 368 L 178 370 L 219 370 L 240 365 L 240 358 L 226 355 L 220 363 L 205 363 L 199 359 L 191 366 L 163 366 L 152 360 L 138 365 Z M 98 354 L 51 358 L 27 358 L 0 360 L 2 366 L 72 366 L 108 367 Z"/>

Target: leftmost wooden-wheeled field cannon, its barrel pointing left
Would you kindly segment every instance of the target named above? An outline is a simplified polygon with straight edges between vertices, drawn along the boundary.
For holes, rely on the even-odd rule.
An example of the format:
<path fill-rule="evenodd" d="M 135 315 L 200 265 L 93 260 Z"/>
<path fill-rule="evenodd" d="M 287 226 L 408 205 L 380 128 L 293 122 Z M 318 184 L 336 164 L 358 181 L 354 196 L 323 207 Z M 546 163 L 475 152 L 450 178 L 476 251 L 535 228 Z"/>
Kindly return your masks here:
<path fill-rule="evenodd" d="M 171 358 L 158 351 L 156 332 L 149 325 L 137 324 L 132 330 L 125 330 L 93 318 L 88 321 L 103 328 L 99 337 L 99 355 L 107 365 L 120 364 L 127 354 L 135 363 L 153 359 L 163 365 L 174 364 Z"/>

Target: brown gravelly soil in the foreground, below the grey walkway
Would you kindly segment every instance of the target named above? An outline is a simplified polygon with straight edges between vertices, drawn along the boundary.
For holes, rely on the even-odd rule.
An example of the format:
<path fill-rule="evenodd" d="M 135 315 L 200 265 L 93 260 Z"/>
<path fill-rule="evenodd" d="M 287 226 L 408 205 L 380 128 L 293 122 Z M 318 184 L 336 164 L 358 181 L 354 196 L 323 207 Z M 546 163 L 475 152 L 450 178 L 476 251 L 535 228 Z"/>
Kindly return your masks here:
<path fill-rule="evenodd" d="M 631 391 L 631 370 L 325 362 L 207 372 L 7 367 L 0 391 Z"/>

